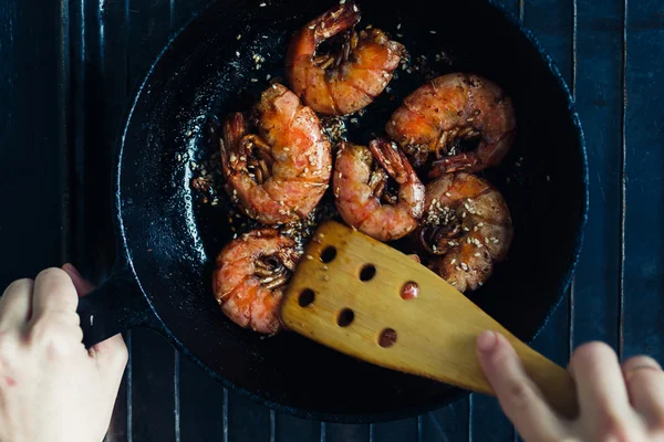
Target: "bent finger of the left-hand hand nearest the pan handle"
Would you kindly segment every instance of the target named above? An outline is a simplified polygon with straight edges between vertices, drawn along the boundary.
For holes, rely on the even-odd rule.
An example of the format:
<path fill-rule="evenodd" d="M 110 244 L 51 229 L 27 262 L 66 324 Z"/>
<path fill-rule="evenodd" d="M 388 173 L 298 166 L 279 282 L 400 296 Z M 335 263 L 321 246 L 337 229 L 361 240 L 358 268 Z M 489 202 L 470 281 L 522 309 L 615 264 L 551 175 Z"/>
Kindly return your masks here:
<path fill-rule="evenodd" d="M 79 296 L 71 277 L 60 269 L 46 269 L 34 280 L 32 320 L 49 312 L 76 313 Z"/>

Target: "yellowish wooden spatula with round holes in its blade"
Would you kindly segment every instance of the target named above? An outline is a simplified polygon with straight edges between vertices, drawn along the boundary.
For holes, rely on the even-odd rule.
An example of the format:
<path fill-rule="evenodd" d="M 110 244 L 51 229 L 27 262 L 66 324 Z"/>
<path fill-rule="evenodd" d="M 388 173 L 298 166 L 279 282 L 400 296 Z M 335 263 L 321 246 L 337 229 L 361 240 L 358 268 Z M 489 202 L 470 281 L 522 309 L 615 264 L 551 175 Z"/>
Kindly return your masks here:
<path fill-rule="evenodd" d="M 486 329 L 515 346 L 549 403 L 578 412 L 569 373 L 532 350 L 438 275 L 336 222 L 321 224 L 287 291 L 286 326 L 382 367 L 491 394 L 475 340 Z"/>

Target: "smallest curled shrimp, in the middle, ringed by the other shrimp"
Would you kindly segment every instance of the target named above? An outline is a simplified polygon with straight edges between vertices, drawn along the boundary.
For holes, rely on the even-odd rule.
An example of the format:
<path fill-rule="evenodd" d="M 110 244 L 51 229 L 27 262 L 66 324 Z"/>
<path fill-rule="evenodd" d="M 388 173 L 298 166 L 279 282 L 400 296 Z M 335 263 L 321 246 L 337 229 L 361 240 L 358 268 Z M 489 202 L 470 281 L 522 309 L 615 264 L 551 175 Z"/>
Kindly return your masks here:
<path fill-rule="evenodd" d="M 395 145 L 376 139 L 370 146 L 341 144 L 333 175 L 336 208 L 361 232 L 378 241 L 397 240 L 417 228 L 424 185 Z M 388 178 L 398 186 L 396 194 L 387 192 Z"/>

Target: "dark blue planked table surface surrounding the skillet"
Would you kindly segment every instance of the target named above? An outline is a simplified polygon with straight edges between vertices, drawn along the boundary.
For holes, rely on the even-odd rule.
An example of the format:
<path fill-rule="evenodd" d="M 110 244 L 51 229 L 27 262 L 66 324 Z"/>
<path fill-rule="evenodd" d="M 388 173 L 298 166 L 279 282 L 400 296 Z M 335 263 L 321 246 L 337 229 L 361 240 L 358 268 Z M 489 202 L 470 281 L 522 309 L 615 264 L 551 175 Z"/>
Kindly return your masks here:
<path fill-rule="evenodd" d="M 575 346 L 602 339 L 623 356 L 662 360 L 664 3 L 505 3 L 570 84 L 590 160 L 590 222 L 577 277 L 535 347 L 566 364 Z M 151 60 L 203 4 L 0 1 L 0 285 L 65 260 L 96 282 L 107 274 L 112 140 Z M 393 423 L 304 421 L 226 391 L 149 330 L 132 330 L 126 340 L 131 359 L 110 441 L 516 438 L 496 401 L 481 396 Z"/>

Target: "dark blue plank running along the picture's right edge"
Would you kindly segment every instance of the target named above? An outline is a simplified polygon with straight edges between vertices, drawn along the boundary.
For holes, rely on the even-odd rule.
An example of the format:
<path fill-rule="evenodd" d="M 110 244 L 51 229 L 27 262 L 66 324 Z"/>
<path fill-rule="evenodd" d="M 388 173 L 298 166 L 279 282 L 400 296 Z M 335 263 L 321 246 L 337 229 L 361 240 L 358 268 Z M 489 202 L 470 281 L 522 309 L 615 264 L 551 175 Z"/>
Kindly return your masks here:
<path fill-rule="evenodd" d="M 663 360 L 664 4 L 630 2 L 627 24 L 624 355 Z"/>

